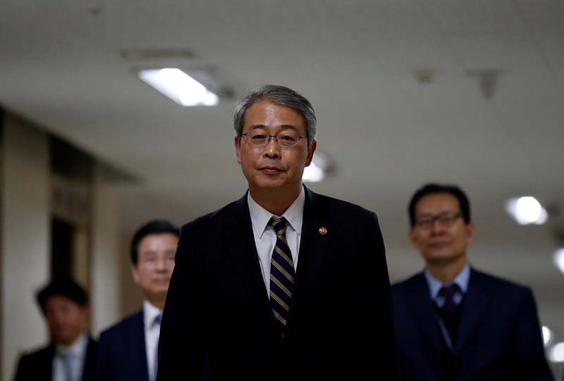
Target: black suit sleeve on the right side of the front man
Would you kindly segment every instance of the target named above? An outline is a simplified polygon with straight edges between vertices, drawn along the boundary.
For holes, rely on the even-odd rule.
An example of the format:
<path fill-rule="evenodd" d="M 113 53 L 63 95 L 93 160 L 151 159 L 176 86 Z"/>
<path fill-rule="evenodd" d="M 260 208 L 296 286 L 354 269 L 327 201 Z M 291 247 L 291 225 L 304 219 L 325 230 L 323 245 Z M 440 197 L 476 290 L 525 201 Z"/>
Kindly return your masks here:
<path fill-rule="evenodd" d="M 364 238 L 364 266 L 359 274 L 360 305 L 357 312 L 362 321 L 367 340 L 371 342 L 362 356 L 366 364 L 365 380 L 399 380 L 396 361 L 396 342 L 393 329 L 393 307 L 390 279 L 386 263 L 384 239 L 378 218 L 372 213 Z M 364 317 L 364 320 L 362 320 Z M 372 353 L 372 348 L 377 353 Z M 371 375 L 367 377 L 368 375 Z"/>

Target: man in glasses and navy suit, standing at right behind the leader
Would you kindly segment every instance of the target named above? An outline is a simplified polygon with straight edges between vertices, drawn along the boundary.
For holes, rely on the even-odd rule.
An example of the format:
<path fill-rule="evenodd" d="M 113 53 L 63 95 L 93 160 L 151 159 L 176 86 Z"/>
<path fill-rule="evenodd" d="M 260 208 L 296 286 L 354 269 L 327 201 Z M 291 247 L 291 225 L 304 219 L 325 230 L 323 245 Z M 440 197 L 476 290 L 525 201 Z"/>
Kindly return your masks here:
<path fill-rule="evenodd" d="M 465 193 L 428 184 L 408 209 L 427 268 L 392 287 L 402 380 L 552 380 L 531 290 L 468 263 Z"/>

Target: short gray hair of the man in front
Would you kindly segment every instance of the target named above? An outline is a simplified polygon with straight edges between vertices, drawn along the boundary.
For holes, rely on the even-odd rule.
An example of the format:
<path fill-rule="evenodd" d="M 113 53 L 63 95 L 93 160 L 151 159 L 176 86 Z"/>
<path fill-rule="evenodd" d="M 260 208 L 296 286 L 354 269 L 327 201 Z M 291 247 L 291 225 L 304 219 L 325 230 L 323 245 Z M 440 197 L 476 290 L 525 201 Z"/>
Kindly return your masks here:
<path fill-rule="evenodd" d="M 315 140 L 317 134 L 317 118 L 313 106 L 305 97 L 298 94 L 292 89 L 276 85 L 264 85 L 258 90 L 250 92 L 246 97 L 237 102 L 235 111 L 233 112 L 233 128 L 239 139 L 243 135 L 243 126 L 245 125 L 245 114 L 253 104 L 261 101 L 269 101 L 281 106 L 290 107 L 298 111 L 305 121 L 307 131 L 307 144 L 311 144 Z"/>

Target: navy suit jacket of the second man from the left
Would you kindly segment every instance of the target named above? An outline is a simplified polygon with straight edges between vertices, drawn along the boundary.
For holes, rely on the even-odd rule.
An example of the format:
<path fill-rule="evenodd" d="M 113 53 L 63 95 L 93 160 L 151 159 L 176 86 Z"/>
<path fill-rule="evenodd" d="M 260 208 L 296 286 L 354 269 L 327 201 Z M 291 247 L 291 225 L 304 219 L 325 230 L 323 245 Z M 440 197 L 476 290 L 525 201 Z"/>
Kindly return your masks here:
<path fill-rule="evenodd" d="M 96 380 L 149 381 L 142 310 L 100 334 Z"/>

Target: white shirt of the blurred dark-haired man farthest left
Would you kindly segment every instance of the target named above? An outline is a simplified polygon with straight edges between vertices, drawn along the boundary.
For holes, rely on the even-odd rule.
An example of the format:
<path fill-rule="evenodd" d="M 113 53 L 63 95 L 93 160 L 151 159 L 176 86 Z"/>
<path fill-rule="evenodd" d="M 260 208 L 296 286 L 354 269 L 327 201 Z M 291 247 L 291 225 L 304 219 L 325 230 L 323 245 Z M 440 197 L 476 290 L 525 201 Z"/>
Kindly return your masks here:
<path fill-rule="evenodd" d="M 80 381 L 82 379 L 82 370 L 86 358 L 86 349 L 88 346 L 88 335 L 81 334 L 70 346 L 61 344 L 55 347 L 55 356 L 53 357 L 53 373 L 51 380 L 53 381 L 68 381 L 66 370 L 66 359 L 68 356 L 69 367 L 71 370 L 71 379 L 73 381 Z"/>

